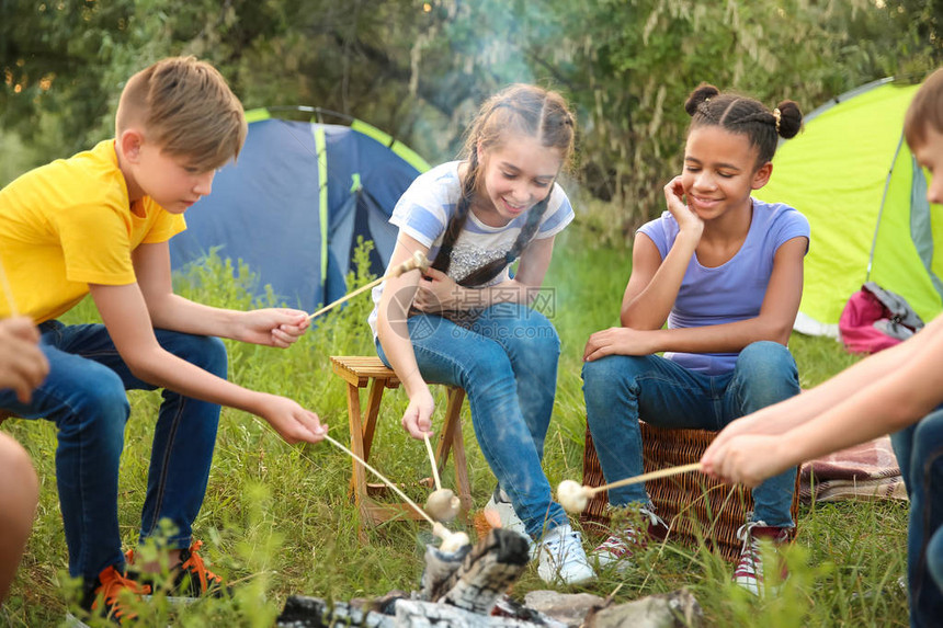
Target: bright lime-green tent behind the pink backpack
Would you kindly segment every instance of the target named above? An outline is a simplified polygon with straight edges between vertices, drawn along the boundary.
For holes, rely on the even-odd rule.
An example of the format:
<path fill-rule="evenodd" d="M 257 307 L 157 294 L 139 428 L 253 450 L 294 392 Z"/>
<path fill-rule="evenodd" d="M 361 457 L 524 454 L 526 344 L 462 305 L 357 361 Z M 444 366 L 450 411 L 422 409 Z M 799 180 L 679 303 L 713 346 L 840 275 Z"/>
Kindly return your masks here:
<path fill-rule="evenodd" d="M 943 219 L 931 221 L 927 179 L 902 136 L 918 87 L 884 79 L 815 110 L 755 193 L 811 226 L 797 331 L 838 336 L 845 301 L 866 281 L 902 295 L 924 321 L 943 309 Z"/>

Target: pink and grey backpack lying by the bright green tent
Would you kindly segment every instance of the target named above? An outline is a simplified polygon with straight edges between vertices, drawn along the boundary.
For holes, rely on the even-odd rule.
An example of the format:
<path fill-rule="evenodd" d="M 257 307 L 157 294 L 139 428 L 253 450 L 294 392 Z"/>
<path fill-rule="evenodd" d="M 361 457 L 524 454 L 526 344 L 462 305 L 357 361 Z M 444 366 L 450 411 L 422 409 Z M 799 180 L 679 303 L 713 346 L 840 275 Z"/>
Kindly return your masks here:
<path fill-rule="evenodd" d="M 875 353 L 923 328 L 923 320 L 898 294 L 867 282 L 848 299 L 838 330 L 851 353 Z"/>

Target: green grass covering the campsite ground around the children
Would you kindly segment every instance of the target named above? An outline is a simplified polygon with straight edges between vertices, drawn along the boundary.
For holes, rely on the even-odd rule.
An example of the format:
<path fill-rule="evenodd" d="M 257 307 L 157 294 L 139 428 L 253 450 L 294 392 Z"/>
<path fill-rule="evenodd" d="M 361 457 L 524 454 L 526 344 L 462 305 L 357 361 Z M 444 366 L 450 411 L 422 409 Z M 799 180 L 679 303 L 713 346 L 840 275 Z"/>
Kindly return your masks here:
<path fill-rule="evenodd" d="M 587 336 L 616 324 L 628 275 L 627 251 L 595 249 L 576 228 L 558 241 L 546 284 L 554 289 L 546 312 L 563 341 L 555 419 L 547 438 L 545 469 L 552 486 L 580 479 L 584 408 L 580 358 Z M 247 309 L 257 305 L 245 289 L 246 269 L 211 259 L 179 282 L 178 292 L 195 300 Z M 361 275 L 356 284 L 368 281 Z M 287 351 L 227 341 L 230 379 L 250 388 L 292 397 L 317 411 L 340 441 L 348 439 L 344 389 L 331 374 L 329 356 L 373 351 L 365 324 L 370 299 L 355 299 L 326 317 L 319 328 Z M 90 302 L 70 312 L 70 321 L 94 319 Z M 810 387 L 854 358 L 826 339 L 794 335 L 791 349 L 802 384 Z M 157 392 L 132 392 L 132 418 L 122 460 L 120 521 L 126 546 L 136 540 L 146 487 Z M 399 427 L 405 395 L 387 392 L 373 454 L 376 466 L 396 479 L 428 475 L 421 442 Z M 444 407 L 444 400 L 440 408 Z M 467 416 L 467 404 L 464 413 Z M 466 425 L 470 421 L 466 420 Z M 3 429 L 30 450 L 42 482 L 38 514 L 23 563 L 0 609 L 8 626 L 55 626 L 66 612 L 75 583 L 67 576 L 67 551 L 56 494 L 55 427 L 45 421 L 11 421 Z M 476 506 L 487 501 L 495 480 L 470 429 L 465 433 Z M 349 495 L 350 460 L 327 444 L 288 446 L 261 420 L 224 409 L 206 500 L 194 530 L 214 571 L 236 583 L 231 601 L 207 601 L 186 609 L 170 608 L 158 597 L 139 607 L 143 625 L 252 626 L 273 624 L 291 594 L 336 601 L 371 597 L 394 589 L 416 590 L 422 569 L 424 526 L 390 522 L 356 535 L 356 512 Z M 446 473 L 443 481 L 448 484 Z M 421 492 L 416 494 L 424 499 Z M 907 601 L 897 586 L 905 572 L 907 505 L 896 502 L 843 502 L 803 507 L 795 546 L 788 552 L 792 578 L 776 597 L 753 600 L 729 582 L 731 567 L 707 550 L 668 544 L 640 558 L 641 568 L 625 575 L 604 572 L 584 589 L 629 601 L 651 593 L 689 587 L 711 626 L 906 626 Z M 535 569 L 514 587 L 545 589 Z"/>

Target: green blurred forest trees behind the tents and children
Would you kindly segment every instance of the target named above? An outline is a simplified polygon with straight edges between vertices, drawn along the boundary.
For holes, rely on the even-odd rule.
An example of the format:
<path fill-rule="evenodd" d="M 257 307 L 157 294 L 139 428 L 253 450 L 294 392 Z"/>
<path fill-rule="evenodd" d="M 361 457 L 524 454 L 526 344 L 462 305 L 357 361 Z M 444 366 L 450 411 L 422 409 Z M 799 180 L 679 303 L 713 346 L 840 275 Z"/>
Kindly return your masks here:
<path fill-rule="evenodd" d="M 537 82 L 577 111 L 572 175 L 602 202 L 583 222 L 618 239 L 660 213 L 701 81 L 809 112 L 919 80 L 941 25 L 943 0 L 0 0 L 0 185 L 109 137 L 124 81 L 168 55 L 213 62 L 246 109 L 352 115 L 430 163 L 486 96 Z"/>

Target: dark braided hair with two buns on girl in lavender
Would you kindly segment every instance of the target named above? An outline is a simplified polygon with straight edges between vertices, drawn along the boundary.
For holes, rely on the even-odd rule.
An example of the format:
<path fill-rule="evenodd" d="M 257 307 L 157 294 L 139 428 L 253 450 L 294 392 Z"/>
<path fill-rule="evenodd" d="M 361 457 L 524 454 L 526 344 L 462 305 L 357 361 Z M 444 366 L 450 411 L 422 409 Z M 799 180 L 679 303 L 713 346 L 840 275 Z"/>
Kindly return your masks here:
<path fill-rule="evenodd" d="M 719 126 L 746 135 L 755 146 L 757 165 L 773 159 L 779 138 L 795 137 L 803 127 L 803 112 L 789 100 L 770 111 L 758 100 L 734 93 L 720 93 L 714 85 L 701 83 L 688 96 L 684 110 L 691 116 L 690 133 L 701 126 Z"/>

